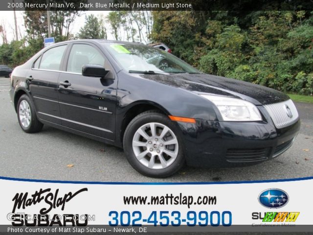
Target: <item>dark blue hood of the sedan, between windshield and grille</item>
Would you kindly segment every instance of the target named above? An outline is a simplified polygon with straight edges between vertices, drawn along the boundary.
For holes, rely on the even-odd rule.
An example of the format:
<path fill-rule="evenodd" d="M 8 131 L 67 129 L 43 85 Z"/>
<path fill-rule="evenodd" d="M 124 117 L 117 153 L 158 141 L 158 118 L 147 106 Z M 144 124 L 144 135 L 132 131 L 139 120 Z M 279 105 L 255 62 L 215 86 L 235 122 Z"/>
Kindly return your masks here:
<path fill-rule="evenodd" d="M 142 74 L 140 76 L 195 93 L 241 98 L 255 105 L 277 103 L 289 99 L 288 95 L 274 89 L 210 74 Z"/>

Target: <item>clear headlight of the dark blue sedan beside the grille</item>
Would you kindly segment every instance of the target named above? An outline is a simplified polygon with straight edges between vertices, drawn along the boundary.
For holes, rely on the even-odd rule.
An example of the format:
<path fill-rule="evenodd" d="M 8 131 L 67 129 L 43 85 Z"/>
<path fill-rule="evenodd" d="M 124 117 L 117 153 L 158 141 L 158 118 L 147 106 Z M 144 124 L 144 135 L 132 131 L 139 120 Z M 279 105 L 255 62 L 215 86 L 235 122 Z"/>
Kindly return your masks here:
<path fill-rule="evenodd" d="M 201 96 L 216 105 L 224 121 L 262 121 L 257 107 L 248 101 L 209 94 Z"/>

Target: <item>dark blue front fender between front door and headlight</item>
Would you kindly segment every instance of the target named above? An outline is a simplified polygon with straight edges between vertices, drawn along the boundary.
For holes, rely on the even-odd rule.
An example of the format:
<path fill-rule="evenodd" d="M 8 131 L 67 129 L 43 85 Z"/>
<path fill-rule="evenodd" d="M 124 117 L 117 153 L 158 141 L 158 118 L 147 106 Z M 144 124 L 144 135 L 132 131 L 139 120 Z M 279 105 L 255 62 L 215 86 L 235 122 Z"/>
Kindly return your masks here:
<path fill-rule="evenodd" d="M 153 75 L 151 75 L 153 76 Z M 218 120 L 211 102 L 200 95 L 182 88 L 158 83 L 129 75 L 123 71 L 118 74 L 117 106 L 119 110 L 145 100 L 168 115 L 203 120 Z"/>

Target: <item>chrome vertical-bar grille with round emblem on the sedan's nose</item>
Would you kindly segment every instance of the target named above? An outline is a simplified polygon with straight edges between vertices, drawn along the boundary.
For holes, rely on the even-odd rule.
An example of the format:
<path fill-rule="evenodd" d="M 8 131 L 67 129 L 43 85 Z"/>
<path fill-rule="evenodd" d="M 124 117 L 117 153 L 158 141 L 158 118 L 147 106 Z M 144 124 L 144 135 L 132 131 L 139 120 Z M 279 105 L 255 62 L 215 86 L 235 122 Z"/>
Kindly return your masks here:
<path fill-rule="evenodd" d="M 264 107 L 277 128 L 289 126 L 298 120 L 298 111 L 291 99 L 284 102 L 264 105 Z M 292 117 L 288 116 L 289 110 L 287 107 L 289 107 Z"/>

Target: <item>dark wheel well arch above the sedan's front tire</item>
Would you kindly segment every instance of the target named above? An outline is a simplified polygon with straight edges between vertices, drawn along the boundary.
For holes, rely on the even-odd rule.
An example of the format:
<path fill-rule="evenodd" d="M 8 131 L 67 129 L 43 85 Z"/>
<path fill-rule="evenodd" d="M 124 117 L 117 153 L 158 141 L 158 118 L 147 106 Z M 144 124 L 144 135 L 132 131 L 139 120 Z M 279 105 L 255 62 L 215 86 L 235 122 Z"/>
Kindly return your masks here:
<path fill-rule="evenodd" d="M 123 142 L 126 127 L 134 119 L 134 117 L 149 110 L 156 110 L 162 114 L 168 115 L 166 111 L 152 104 L 137 104 L 133 106 L 132 108 L 130 108 L 130 110 L 127 111 L 127 113 L 124 116 L 122 126 L 121 126 L 121 136 L 120 136 L 121 142 Z"/>

